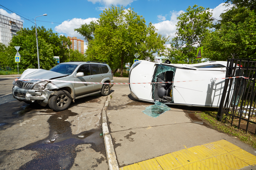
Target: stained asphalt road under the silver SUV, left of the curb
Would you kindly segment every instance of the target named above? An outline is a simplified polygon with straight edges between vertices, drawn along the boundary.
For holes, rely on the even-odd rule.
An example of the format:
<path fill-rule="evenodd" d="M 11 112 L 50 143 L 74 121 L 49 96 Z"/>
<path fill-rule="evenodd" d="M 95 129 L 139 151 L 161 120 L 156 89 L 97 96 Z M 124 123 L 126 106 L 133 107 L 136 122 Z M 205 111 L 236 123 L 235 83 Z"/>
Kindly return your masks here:
<path fill-rule="evenodd" d="M 13 80 L 0 78 L 0 169 L 108 169 L 100 136 L 106 96 L 81 98 L 54 112 L 14 99 Z M 114 85 L 111 93 L 127 86 Z"/>

